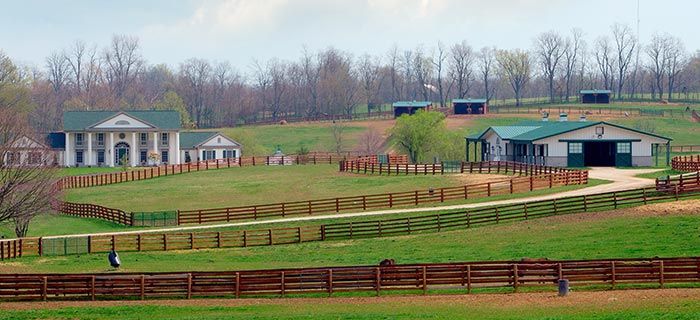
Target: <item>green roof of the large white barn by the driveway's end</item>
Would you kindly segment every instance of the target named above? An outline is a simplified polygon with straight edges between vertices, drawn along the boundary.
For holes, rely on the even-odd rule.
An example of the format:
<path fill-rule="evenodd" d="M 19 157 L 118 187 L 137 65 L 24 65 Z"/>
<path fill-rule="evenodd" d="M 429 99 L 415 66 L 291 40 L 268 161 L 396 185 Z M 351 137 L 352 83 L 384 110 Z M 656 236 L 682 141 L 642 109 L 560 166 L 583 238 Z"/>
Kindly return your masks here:
<path fill-rule="evenodd" d="M 673 140 L 668 137 L 663 137 L 649 132 L 640 131 L 633 128 L 624 127 L 614 123 L 608 123 L 604 121 L 525 121 L 513 126 L 494 126 L 489 127 L 484 130 L 479 135 L 469 136 L 470 140 L 478 140 L 483 138 L 483 136 L 489 131 L 493 130 L 504 140 L 511 141 L 536 141 L 545 139 L 551 136 L 556 136 L 569 131 L 574 131 L 578 129 L 583 129 L 590 126 L 606 124 L 613 127 L 617 127 L 624 130 L 634 131 L 637 133 L 657 137 L 664 140 Z"/>

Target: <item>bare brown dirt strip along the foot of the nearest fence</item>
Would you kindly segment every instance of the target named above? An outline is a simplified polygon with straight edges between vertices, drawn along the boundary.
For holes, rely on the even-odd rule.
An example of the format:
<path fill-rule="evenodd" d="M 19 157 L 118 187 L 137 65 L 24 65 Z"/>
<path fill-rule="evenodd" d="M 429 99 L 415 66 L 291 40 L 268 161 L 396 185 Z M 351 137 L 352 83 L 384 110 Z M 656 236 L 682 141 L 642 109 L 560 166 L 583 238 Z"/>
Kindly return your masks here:
<path fill-rule="evenodd" d="M 664 304 L 673 301 L 698 300 L 700 289 L 647 289 L 580 291 L 575 290 L 567 297 L 558 297 L 556 292 L 511 293 L 511 294 L 471 294 L 471 295 L 408 295 L 353 298 L 290 298 L 290 299 L 191 299 L 191 300 L 146 300 L 146 301 L 49 301 L 49 302 L 8 302 L 0 303 L 0 310 L 57 309 L 66 307 L 113 307 L 113 306 L 197 306 L 235 307 L 252 305 L 298 306 L 305 304 L 341 305 L 352 304 L 358 307 L 369 304 L 396 305 L 470 305 L 499 308 L 518 308 L 538 305 L 541 307 L 624 307 L 631 304 L 651 302 Z"/>

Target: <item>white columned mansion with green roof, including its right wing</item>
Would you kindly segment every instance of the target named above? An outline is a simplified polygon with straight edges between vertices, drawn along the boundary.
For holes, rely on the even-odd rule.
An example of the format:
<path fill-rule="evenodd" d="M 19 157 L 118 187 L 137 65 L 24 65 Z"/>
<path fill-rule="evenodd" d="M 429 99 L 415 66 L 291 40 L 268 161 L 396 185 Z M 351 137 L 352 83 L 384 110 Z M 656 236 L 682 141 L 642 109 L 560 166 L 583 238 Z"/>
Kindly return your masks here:
<path fill-rule="evenodd" d="M 63 114 L 63 132 L 52 133 L 50 140 L 56 141 L 51 147 L 61 150 L 62 164 L 67 167 L 180 164 L 185 162 L 187 154 L 180 147 L 181 136 L 186 135 L 188 144 L 191 141 L 188 138 L 191 133 L 181 130 L 177 111 L 67 111 Z M 226 141 L 218 147 L 227 150 L 236 147 L 238 151 L 235 154 L 221 152 L 215 158 L 240 157 L 240 145 L 218 135 Z M 209 150 L 210 146 L 216 143 L 201 146 L 201 149 Z"/>

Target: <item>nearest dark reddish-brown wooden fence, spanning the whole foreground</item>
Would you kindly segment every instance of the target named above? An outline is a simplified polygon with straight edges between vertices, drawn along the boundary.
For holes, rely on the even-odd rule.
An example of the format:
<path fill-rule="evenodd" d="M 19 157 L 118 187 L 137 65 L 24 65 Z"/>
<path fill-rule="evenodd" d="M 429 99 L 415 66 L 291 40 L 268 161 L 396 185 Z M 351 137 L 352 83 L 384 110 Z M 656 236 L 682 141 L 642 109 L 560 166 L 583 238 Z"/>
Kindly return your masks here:
<path fill-rule="evenodd" d="M 465 293 L 481 288 L 553 287 L 566 279 L 573 287 L 700 282 L 700 258 L 480 261 L 345 266 L 223 272 L 95 274 L 2 274 L 2 300 L 106 300 L 243 297 L 338 292 L 428 290 Z"/>

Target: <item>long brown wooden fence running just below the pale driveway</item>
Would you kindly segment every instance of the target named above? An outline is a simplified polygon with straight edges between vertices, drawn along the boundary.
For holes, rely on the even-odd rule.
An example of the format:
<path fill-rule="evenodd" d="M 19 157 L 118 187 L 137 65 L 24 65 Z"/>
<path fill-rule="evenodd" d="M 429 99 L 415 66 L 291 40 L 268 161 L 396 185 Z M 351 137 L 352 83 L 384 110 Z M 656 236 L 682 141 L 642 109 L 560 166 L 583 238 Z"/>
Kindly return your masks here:
<path fill-rule="evenodd" d="M 376 238 L 426 232 L 463 230 L 472 227 L 529 220 L 554 215 L 613 210 L 622 207 L 678 201 L 697 197 L 700 186 L 684 192 L 665 192 L 655 188 L 529 201 L 509 205 L 478 207 L 431 213 L 405 218 L 338 222 L 297 227 L 256 230 L 197 232 L 148 232 L 100 234 L 94 236 L 52 236 L 0 240 L 0 246 L 14 248 L 5 258 L 22 255 L 64 255 L 119 251 L 167 251 L 204 248 L 231 248 L 293 244 L 310 241 Z M 10 243 L 10 244 L 8 244 Z M 24 244 L 24 247 L 21 247 Z"/>

